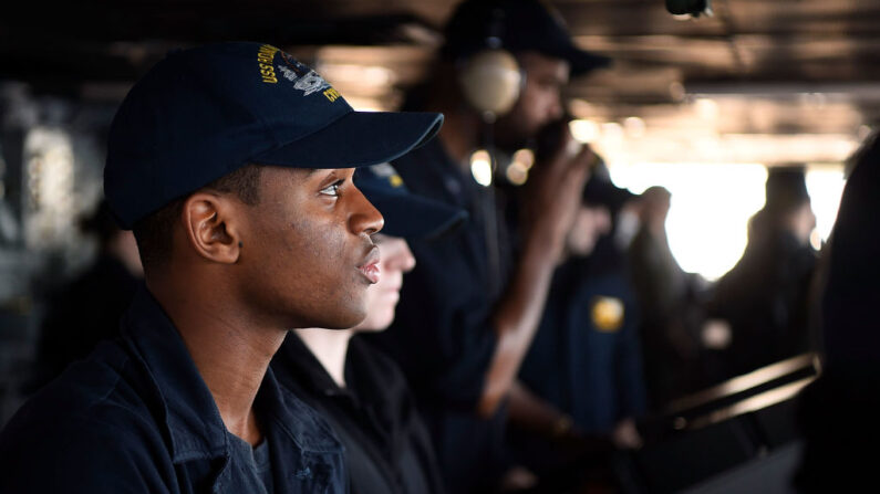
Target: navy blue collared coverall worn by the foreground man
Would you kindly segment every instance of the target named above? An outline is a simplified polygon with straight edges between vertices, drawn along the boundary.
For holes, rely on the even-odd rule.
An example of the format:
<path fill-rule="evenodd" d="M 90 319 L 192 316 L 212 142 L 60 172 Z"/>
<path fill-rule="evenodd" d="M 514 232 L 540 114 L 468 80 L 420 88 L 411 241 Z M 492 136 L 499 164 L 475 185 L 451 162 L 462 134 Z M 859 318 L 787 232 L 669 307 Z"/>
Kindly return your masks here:
<path fill-rule="evenodd" d="M 141 287 L 122 338 L 41 390 L 0 434 L 3 493 L 260 493 L 180 335 Z M 345 493 L 343 449 L 269 370 L 255 401 L 272 490 Z"/>

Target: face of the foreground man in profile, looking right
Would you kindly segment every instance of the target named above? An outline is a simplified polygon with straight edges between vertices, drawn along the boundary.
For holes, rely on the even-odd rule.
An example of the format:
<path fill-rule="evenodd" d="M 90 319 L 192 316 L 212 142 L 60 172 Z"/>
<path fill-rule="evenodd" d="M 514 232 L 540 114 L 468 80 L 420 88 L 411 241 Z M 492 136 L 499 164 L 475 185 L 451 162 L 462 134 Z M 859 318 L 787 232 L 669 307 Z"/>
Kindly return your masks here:
<path fill-rule="evenodd" d="M 240 261 L 251 264 L 249 302 L 287 328 L 346 328 L 366 315 L 367 288 L 380 280 L 371 235 L 383 219 L 353 171 L 263 170 Z"/>

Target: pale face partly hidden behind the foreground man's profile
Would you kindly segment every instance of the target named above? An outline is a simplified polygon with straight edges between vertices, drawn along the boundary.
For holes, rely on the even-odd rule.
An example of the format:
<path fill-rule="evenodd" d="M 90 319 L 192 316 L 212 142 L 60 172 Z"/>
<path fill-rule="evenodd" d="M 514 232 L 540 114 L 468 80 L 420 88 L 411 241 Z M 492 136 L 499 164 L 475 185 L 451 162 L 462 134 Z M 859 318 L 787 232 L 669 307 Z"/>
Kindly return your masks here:
<path fill-rule="evenodd" d="M 366 291 L 366 318 L 355 327 L 363 332 L 383 330 L 394 322 L 403 274 L 415 266 L 415 257 L 405 240 L 377 233 L 373 241 L 379 245 L 382 257 L 379 264 L 381 277 Z"/>

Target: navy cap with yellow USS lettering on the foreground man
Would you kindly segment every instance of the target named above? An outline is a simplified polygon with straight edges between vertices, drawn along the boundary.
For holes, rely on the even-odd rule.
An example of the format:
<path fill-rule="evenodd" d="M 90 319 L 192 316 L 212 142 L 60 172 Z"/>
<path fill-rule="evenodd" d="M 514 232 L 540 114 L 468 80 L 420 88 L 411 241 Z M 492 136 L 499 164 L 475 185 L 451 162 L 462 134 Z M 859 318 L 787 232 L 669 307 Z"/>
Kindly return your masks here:
<path fill-rule="evenodd" d="M 104 195 L 125 229 L 248 164 L 351 168 L 429 140 L 436 113 L 355 112 L 275 46 L 222 43 L 169 53 L 111 125 Z"/>

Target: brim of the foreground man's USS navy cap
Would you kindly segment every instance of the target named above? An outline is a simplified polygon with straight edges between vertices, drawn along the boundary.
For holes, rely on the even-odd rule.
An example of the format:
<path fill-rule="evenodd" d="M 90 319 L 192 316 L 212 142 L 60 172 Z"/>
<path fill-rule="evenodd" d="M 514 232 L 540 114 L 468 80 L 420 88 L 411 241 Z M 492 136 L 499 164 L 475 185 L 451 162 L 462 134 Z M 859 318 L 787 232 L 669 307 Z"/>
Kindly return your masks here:
<path fill-rule="evenodd" d="M 351 112 L 327 127 L 252 158 L 296 168 L 356 168 L 400 158 L 431 140 L 438 113 Z"/>

